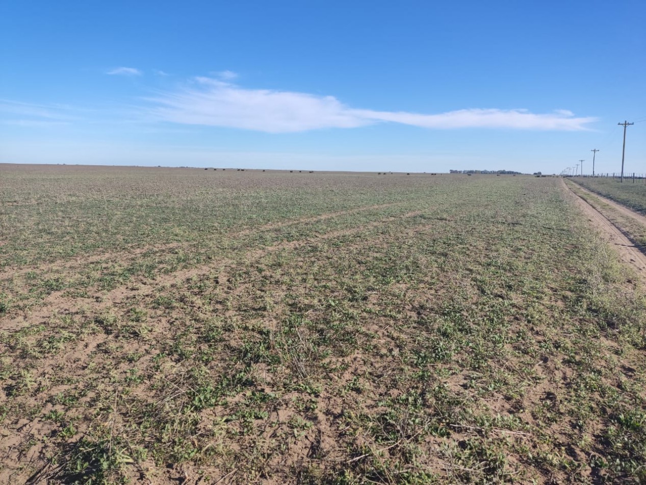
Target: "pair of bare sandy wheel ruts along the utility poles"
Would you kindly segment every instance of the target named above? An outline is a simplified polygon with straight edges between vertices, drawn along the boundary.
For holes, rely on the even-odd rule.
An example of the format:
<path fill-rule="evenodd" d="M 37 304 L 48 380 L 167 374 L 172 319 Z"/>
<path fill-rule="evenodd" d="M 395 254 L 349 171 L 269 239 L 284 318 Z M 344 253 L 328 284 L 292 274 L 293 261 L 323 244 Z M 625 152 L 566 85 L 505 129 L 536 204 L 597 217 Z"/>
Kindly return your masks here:
<path fill-rule="evenodd" d="M 598 230 L 604 239 L 609 242 L 609 244 L 616 249 L 621 261 L 623 263 L 632 267 L 640 281 L 643 285 L 646 285 L 646 255 L 641 251 L 640 247 L 635 244 L 634 241 L 630 239 L 629 233 L 625 232 L 620 226 L 617 226 L 610 221 L 603 213 L 594 208 L 587 200 L 579 196 L 570 186 L 568 186 L 565 181 L 561 178 L 561 184 L 563 188 L 572 195 L 572 199 L 578 208 L 585 214 L 587 219 L 592 223 L 595 228 Z M 577 188 L 580 188 L 582 191 L 598 197 L 599 200 L 609 204 L 613 210 L 618 210 L 624 215 L 629 215 L 634 221 L 643 224 L 646 227 L 646 217 L 638 213 L 634 213 L 631 210 L 620 206 L 612 200 L 601 197 L 600 195 L 590 192 L 576 184 Z"/>

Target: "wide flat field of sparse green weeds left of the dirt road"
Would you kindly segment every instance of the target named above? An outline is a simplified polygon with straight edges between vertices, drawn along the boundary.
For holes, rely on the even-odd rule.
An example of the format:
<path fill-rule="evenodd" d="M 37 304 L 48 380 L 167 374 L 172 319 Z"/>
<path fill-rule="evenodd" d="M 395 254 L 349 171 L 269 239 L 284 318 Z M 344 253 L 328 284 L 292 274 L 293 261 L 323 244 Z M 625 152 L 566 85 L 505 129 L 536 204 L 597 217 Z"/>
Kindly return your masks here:
<path fill-rule="evenodd" d="M 643 287 L 572 197 L 0 166 L 0 482 L 646 480 Z"/>

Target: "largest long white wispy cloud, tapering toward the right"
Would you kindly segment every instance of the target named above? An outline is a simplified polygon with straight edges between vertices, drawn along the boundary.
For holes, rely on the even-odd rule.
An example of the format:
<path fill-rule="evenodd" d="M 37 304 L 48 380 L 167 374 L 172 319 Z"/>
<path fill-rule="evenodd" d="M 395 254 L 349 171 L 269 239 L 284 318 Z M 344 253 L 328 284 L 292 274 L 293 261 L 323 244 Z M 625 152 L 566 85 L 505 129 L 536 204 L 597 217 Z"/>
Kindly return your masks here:
<path fill-rule="evenodd" d="M 211 125 L 293 133 L 326 128 L 355 128 L 397 123 L 428 129 L 503 128 L 581 131 L 596 121 L 567 110 L 531 113 L 526 109 L 460 109 L 422 114 L 406 111 L 355 109 L 334 96 L 304 92 L 245 89 L 220 79 L 198 77 L 174 92 L 160 92 L 148 111 L 154 118 L 191 125 Z"/>

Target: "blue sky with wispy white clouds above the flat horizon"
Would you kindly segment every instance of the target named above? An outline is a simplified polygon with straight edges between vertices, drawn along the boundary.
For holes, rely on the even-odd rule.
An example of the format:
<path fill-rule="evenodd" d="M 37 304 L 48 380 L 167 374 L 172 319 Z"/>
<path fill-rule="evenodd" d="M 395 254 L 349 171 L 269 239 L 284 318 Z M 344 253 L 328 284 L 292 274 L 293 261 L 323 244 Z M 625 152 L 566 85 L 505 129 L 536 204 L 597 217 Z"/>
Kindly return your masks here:
<path fill-rule="evenodd" d="M 3 2 L 0 162 L 646 172 L 646 2 Z"/>

